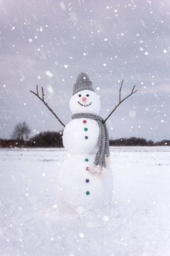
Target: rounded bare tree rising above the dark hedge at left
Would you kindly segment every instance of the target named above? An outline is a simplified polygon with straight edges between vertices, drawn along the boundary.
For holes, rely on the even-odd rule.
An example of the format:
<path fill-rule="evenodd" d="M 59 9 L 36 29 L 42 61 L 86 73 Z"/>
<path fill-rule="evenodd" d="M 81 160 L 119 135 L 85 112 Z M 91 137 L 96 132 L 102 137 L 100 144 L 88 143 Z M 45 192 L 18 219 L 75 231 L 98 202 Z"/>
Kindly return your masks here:
<path fill-rule="evenodd" d="M 11 137 L 13 139 L 23 141 L 23 140 L 28 139 L 30 133 L 31 133 L 30 127 L 28 127 L 26 122 L 22 122 L 22 123 L 18 123 L 17 125 L 15 125 Z"/>

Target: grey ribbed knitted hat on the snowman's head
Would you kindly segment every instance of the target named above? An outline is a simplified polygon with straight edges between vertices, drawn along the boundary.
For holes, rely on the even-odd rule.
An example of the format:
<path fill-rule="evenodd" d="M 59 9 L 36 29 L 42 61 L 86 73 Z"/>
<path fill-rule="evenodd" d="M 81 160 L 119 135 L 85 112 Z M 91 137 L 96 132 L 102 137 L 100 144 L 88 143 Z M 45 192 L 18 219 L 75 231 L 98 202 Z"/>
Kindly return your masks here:
<path fill-rule="evenodd" d="M 88 75 L 81 72 L 77 77 L 76 83 L 74 84 L 73 95 L 83 90 L 91 90 L 94 92 L 92 83 L 89 80 Z"/>

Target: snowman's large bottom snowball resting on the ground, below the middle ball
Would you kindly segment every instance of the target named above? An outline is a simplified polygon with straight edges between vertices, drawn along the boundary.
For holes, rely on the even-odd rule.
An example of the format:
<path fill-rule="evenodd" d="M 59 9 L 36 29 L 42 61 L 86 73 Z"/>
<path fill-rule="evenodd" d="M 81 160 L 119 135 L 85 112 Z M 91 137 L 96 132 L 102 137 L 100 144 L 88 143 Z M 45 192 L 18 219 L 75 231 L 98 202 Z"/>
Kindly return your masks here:
<path fill-rule="evenodd" d="M 93 154 L 76 154 L 69 156 L 62 163 L 58 173 L 60 206 L 93 209 L 103 207 L 110 201 L 112 186 L 108 186 L 110 179 L 107 172 L 103 174 L 89 172 L 89 166 L 94 159 Z M 110 182 L 112 183 L 111 180 Z"/>

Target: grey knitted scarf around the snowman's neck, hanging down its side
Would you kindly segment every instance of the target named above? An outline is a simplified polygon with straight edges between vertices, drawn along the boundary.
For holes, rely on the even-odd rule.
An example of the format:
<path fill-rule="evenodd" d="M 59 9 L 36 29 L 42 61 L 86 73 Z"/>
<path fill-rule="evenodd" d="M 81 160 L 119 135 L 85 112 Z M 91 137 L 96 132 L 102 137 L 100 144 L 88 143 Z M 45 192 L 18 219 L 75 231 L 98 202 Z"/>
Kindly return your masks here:
<path fill-rule="evenodd" d="M 99 117 L 93 114 L 79 113 L 79 114 L 74 114 L 72 116 L 72 119 L 79 119 L 79 118 L 93 119 L 99 125 L 98 151 L 95 156 L 94 164 L 96 166 L 97 165 L 101 166 L 101 168 L 106 167 L 105 156 L 106 157 L 110 156 L 110 149 L 109 149 L 110 141 L 109 141 L 108 129 L 104 123 L 104 120 L 102 119 L 102 117 Z"/>

